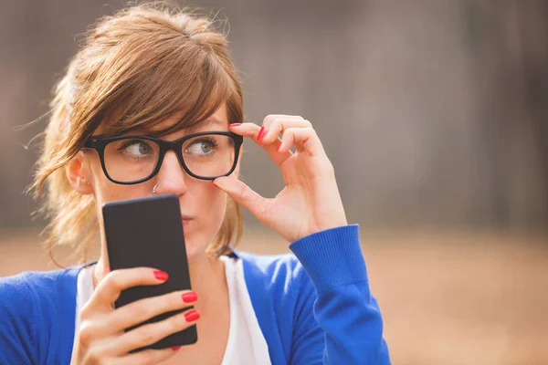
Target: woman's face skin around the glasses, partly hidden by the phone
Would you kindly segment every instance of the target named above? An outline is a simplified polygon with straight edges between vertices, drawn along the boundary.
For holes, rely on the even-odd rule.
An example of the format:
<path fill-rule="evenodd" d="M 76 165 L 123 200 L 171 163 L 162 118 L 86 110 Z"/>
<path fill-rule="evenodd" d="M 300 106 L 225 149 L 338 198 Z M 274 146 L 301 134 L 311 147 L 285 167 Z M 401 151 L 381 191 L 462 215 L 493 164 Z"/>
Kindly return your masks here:
<path fill-rule="evenodd" d="M 181 114 L 175 114 L 167 120 L 163 120 L 154 128 L 163 130 L 173 125 L 181 117 Z M 93 134 L 100 134 L 103 127 L 101 125 Z M 178 130 L 163 136 L 162 139 L 174 141 L 195 132 L 227 130 L 227 110 L 226 105 L 222 105 L 207 121 L 198 125 L 195 129 Z M 129 134 L 142 135 L 143 133 L 135 130 Z M 211 181 L 195 179 L 184 172 L 174 151 L 165 153 L 158 174 L 144 183 L 132 185 L 112 183 L 102 171 L 100 158 L 96 151 L 84 153 L 82 167 L 91 185 L 98 207 L 106 202 L 151 196 L 154 185 L 157 185 L 156 194 L 176 194 L 179 197 L 182 224 L 184 224 L 186 253 L 190 261 L 205 253 L 207 245 L 213 241 L 223 223 L 227 205 L 226 193 L 217 189 Z M 233 173 L 237 174 L 237 170 Z M 100 214 L 100 209 L 98 214 Z M 102 219 L 100 219 L 100 222 L 102 222 Z"/>

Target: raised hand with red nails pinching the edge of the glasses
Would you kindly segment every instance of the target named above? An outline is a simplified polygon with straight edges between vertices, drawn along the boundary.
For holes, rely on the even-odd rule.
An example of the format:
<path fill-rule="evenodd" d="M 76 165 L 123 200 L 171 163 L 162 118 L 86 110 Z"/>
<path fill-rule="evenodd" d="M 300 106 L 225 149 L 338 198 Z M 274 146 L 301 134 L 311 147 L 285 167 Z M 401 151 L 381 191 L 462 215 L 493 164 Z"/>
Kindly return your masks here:
<path fill-rule="evenodd" d="M 310 121 L 269 115 L 260 129 L 257 124 L 242 123 L 230 125 L 230 130 L 256 141 L 276 162 L 283 176 L 286 186 L 273 199 L 260 196 L 231 176 L 214 181 L 262 224 L 289 242 L 347 224 L 332 163 Z M 295 153 L 290 151 L 292 145 Z"/>

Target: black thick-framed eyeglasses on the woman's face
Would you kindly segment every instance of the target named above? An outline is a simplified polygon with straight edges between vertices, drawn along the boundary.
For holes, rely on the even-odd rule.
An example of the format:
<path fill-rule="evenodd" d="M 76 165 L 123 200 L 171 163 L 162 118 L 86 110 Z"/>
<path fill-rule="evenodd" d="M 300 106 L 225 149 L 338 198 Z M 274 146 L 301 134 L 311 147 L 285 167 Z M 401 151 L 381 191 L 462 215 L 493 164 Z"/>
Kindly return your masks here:
<path fill-rule="evenodd" d="M 204 131 L 175 141 L 149 136 L 90 137 L 84 148 L 98 151 L 103 172 L 112 183 L 130 185 L 152 179 L 170 150 L 196 179 L 227 176 L 236 169 L 242 142 L 242 136 L 230 131 Z"/>

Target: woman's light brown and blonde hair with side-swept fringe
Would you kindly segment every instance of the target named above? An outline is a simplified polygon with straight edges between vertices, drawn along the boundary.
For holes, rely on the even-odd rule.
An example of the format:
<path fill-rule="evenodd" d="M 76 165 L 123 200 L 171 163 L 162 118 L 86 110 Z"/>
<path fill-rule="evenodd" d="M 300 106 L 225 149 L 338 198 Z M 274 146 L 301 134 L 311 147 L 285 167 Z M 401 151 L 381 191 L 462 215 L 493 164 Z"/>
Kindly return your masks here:
<path fill-rule="evenodd" d="M 218 27 L 218 26 L 217 26 Z M 243 120 L 242 91 L 229 56 L 227 36 L 206 16 L 165 3 L 134 5 L 98 20 L 68 64 L 51 101 L 51 118 L 34 183 L 35 198 L 46 196 L 48 252 L 56 245 L 83 251 L 99 237 L 92 195 L 71 187 L 64 169 L 102 120 L 106 135 L 150 127 L 176 112 L 182 121 L 163 130 L 189 128 L 227 105 L 229 122 Z M 222 255 L 242 235 L 241 207 L 228 199 L 227 212 L 211 255 Z"/>

